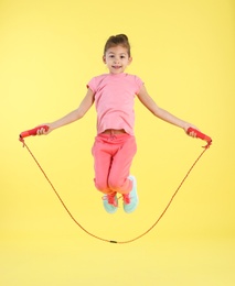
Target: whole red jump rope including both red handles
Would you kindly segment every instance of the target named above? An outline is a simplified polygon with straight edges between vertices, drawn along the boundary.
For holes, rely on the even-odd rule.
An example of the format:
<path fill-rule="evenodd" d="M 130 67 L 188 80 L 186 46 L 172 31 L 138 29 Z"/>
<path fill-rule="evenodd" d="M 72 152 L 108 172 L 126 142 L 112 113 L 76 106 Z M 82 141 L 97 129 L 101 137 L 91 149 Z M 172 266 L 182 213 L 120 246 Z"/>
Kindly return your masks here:
<path fill-rule="evenodd" d="M 177 190 L 174 191 L 174 194 L 172 195 L 170 201 L 168 202 L 167 207 L 163 209 L 163 211 L 161 212 L 161 215 L 159 216 L 159 218 L 156 220 L 156 222 L 143 233 L 141 233 L 140 235 L 130 239 L 130 240 L 126 240 L 126 241 L 115 241 L 115 240 L 108 240 L 108 239 L 104 239 L 100 237 L 97 237 L 95 234 L 93 234 L 92 232 L 87 231 L 75 218 L 74 216 L 71 213 L 71 211 L 68 210 L 68 208 L 66 207 L 66 205 L 64 204 L 63 199 L 61 198 L 61 196 L 58 195 L 58 193 L 56 191 L 55 187 L 53 186 L 52 182 L 49 179 L 47 175 L 45 174 L 44 169 L 42 168 L 42 166 L 40 165 L 39 161 L 35 158 L 35 156 L 33 155 L 33 153 L 31 152 L 31 150 L 29 148 L 29 146 L 26 145 L 26 143 L 24 142 L 24 139 L 28 136 L 34 136 L 38 133 L 38 130 L 40 129 L 45 129 L 46 131 L 49 130 L 47 125 L 40 125 L 36 127 L 34 129 L 24 131 L 20 133 L 19 140 L 20 142 L 23 143 L 23 147 L 25 146 L 26 150 L 29 151 L 30 155 L 32 156 L 32 158 L 34 160 L 34 162 L 36 163 L 36 165 L 39 166 L 39 168 L 41 169 L 41 172 L 43 173 L 45 179 L 47 180 L 47 183 L 51 185 L 52 189 L 54 190 L 55 195 L 57 196 L 58 200 L 61 201 L 62 206 L 64 207 L 64 209 L 66 210 L 66 212 L 68 213 L 68 216 L 71 217 L 71 219 L 88 235 L 104 241 L 104 242 L 109 242 L 109 243 L 119 243 L 119 244 L 126 244 L 126 243 L 130 243 L 133 242 L 136 240 L 139 240 L 140 238 L 145 237 L 147 233 L 149 233 L 157 224 L 158 222 L 161 220 L 161 218 L 164 216 L 164 213 L 167 212 L 168 208 L 170 207 L 171 202 L 173 201 L 174 197 L 177 196 L 178 191 L 180 190 L 180 188 L 182 187 L 183 183 L 185 182 L 185 179 L 188 178 L 188 176 L 190 175 L 190 173 L 192 172 L 192 169 L 194 168 L 195 164 L 199 162 L 199 160 L 202 157 L 202 155 L 205 153 L 205 151 L 211 146 L 212 144 L 212 139 L 205 134 L 203 134 L 202 132 L 193 129 L 193 128 L 189 128 L 188 129 L 188 133 L 191 132 L 195 132 L 196 138 L 204 140 L 207 142 L 207 144 L 205 146 L 203 146 L 203 151 L 202 153 L 199 155 L 199 157 L 194 161 L 194 163 L 192 164 L 192 166 L 190 167 L 190 169 L 186 172 L 186 175 L 183 177 L 183 179 L 181 180 L 179 187 L 177 188 Z"/>

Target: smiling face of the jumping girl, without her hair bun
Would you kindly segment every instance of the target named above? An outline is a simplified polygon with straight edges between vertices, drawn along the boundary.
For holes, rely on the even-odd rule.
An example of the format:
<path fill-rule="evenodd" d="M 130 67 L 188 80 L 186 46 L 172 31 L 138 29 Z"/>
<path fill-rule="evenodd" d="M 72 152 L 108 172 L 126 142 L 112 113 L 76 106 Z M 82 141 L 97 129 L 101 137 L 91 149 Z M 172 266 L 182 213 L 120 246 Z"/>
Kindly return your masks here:
<path fill-rule="evenodd" d="M 131 63 L 132 58 L 128 56 L 128 51 L 121 45 L 113 46 L 107 50 L 103 57 L 110 74 L 121 74 Z"/>

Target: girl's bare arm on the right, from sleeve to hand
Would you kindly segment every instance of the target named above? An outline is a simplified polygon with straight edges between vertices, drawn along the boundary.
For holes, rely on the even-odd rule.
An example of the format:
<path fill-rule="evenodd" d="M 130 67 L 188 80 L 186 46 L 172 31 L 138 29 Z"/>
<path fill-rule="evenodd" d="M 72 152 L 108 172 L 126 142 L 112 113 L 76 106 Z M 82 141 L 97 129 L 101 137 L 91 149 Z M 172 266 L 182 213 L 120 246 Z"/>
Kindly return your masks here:
<path fill-rule="evenodd" d="M 153 99 L 149 96 L 145 85 L 140 88 L 139 94 L 137 95 L 141 103 L 149 110 L 151 111 L 156 117 L 167 121 L 168 123 L 171 123 L 173 125 L 177 125 L 179 128 L 182 128 L 185 132 L 188 131 L 189 128 L 196 129 L 194 125 L 188 123 L 186 121 L 183 121 L 167 110 L 160 108 Z M 194 132 L 190 133 L 191 136 L 195 136 L 196 134 Z"/>

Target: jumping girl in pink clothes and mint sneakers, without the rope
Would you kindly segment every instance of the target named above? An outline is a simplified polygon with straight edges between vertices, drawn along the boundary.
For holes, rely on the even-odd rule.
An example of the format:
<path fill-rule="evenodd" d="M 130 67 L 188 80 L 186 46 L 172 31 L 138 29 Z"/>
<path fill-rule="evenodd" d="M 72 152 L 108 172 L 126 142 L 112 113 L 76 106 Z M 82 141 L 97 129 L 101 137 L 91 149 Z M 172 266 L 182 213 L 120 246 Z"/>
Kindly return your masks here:
<path fill-rule="evenodd" d="M 142 80 L 126 74 L 132 57 L 130 45 L 125 34 L 110 36 L 104 48 L 103 61 L 109 74 L 92 78 L 87 92 L 79 107 L 67 116 L 47 123 L 47 131 L 40 129 L 38 134 L 72 123 L 85 116 L 95 102 L 97 111 L 97 136 L 92 152 L 94 156 L 95 186 L 104 193 L 103 204 L 107 212 L 114 213 L 118 208 L 117 193 L 121 194 L 124 210 L 132 212 L 138 206 L 137 182 L 129 175 L 132 158 L 136 154 L 133 134 L 133 100 L 137 96 L 143 106 L 156 117 L 182 128 L 185 132 L 194 125 L 161 109 L 148 95 Z M 194 132 L 189 135 L 195 136 Z"/>

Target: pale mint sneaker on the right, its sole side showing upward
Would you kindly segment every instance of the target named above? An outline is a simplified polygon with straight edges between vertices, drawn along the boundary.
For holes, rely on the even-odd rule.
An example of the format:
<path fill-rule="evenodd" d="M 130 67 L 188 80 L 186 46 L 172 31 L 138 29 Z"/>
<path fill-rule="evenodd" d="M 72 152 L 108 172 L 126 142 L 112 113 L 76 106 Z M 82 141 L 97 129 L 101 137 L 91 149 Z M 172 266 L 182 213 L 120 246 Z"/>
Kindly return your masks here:
<path fill-rule="evenodd" d="M 130 212 L 136 210 L 136 208 L 139 204 L 139 199 L 138 199 L 138 195 L 137 195 L 137 180 L 136 180 L 136 178 L 131 175 L 128 178 L 130 180 L 132 180 L 132 189 L 129 194 L 122 195 L 122 198 L 124 198 L 124 210 L 127 213 L 130 213 Z"/>

